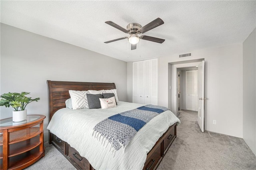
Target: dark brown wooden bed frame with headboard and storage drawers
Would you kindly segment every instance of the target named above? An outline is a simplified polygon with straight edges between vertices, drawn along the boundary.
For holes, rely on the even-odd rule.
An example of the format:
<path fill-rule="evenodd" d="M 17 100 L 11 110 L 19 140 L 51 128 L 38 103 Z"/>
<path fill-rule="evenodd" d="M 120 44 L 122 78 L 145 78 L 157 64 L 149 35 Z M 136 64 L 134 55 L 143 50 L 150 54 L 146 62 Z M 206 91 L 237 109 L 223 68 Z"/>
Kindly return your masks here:
<path fill-rule="evenodd" d="M 49 122 L 52 116 L 59 109 L 65 108 L 65 101 L 70 98 L 69 90 L 87 91 L 87 90 L 110 90 L 116 89 L 115 83 L 88 83 L 88 82 L 70 82 L 70 81 L 50 81 L 48 83 L 49 97 Z M 170 145 L 177 136 L 176 123 L 159 138 L 152 150 L 148 152 L 144 164 L 145 170 L 156 169 L 162 158 L 166 154 Z M 58 138 L 49 131 L 49 144 L 53 144 L 73 165 L 79 170 L 94 170 L 90 162 L 82 156 L 75 148 Z"/>

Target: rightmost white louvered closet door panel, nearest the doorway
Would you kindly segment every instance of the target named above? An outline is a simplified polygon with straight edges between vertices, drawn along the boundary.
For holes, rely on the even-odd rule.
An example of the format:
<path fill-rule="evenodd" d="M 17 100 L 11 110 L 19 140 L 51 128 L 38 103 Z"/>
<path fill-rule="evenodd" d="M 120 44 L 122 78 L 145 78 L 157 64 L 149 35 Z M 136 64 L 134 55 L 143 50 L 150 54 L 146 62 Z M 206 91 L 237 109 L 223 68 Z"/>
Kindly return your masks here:
<path fill-rule="evenodd" d="M 151 59 L 151 104 L 158 105 L 158 59 Z"/>

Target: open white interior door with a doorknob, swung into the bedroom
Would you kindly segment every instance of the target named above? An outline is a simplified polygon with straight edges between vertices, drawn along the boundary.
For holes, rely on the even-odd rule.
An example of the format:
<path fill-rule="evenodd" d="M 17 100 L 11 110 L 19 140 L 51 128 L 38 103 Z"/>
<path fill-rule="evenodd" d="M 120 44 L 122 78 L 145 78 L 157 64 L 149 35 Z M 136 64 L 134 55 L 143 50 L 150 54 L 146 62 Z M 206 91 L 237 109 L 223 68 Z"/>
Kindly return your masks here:
<path fill-rule="evenodd" d="M 198 116 L 197 122 L 204 132 L 204 61 L 198 65 Z"/>

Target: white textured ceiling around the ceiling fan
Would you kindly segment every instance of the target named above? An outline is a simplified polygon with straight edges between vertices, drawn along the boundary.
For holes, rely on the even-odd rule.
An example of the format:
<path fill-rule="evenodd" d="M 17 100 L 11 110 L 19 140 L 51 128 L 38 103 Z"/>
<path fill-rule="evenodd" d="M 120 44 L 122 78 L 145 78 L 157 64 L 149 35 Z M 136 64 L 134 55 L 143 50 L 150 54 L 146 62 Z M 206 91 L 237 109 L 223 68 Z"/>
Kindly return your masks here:
<path fill-rule="evenodd" d="M 128 50 L 127 36 L 105 24 L 126 28 L 156 18 L 164 24 Z M 256 27 L 256 1 L 3 1 L 1 22 L 124 61 L 188 53 L 194 49 L 242 43 Z M 129 56 L 129 57 L 128 57 Z M 140 57 L 141 56 L 141 57 Z"/>

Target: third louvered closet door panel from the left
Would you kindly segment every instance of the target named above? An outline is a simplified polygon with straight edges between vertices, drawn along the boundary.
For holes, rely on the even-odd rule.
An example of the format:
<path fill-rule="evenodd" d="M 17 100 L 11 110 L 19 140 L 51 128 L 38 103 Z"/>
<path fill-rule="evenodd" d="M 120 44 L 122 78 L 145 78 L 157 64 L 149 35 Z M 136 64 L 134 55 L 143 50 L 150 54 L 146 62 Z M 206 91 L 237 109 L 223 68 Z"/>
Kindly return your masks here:
<path fill-rule="evenodd" d="M 144 86 L 144 104 L 151 104 L 151 60 L 144 61 L 144 77 L 145 77 L 145 86 Z"/>

